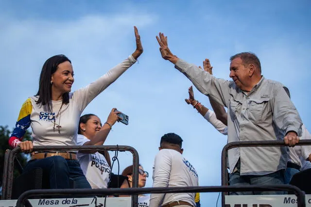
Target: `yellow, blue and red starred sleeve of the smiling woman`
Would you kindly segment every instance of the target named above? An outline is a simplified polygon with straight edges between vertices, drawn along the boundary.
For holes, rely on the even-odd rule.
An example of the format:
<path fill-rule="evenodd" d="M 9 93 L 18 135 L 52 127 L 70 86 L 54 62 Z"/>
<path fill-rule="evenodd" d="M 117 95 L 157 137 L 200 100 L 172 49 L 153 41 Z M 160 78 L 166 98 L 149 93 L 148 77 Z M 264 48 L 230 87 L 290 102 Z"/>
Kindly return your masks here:
<path fill-rule="evenodd" d="M 12 147 L 17 147 L 17 144 L 20 143 L 23 139 L 24 134 L 27 131 L 27 128 L 30 127 L 30 115 L 33 110 L 33 106 L 30 98 L 28 98 L 22 105 L 18 119 L 15 125 L 15 129 L 12 132 L 12 135 L 9 139 L 9 145 Z"/>

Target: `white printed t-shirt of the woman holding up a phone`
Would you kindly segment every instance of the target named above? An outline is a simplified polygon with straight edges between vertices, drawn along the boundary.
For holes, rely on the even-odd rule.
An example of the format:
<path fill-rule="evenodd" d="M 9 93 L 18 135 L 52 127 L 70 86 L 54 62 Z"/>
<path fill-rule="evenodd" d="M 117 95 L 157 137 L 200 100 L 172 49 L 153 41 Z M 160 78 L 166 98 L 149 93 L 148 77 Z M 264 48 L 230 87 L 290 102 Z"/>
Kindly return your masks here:
<path fill-rule="evenodd" d="M 78 134 L 77 145 L 83 145 L 88 141 L 89 139 L 85 136 Z M 92 189 L 107 188 L 111 169 L 104 155 L 99 152 L 94 154 L 84 154 L 78 152 L 78 160 L 83 174 L 86 176 L 86 179 Z"/>

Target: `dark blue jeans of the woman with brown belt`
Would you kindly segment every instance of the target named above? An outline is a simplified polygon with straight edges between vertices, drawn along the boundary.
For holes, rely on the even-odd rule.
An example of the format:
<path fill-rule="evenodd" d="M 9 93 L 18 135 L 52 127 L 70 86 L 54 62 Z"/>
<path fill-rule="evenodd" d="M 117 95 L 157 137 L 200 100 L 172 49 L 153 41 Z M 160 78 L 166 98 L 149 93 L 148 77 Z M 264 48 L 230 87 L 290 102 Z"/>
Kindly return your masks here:
<path fill-rule="evenodd" d="M 49 175 L 51 189 L 72 188 L 72 186 L 70 186 L 69 178 L 74 181 L 74 188 L 91 188 L 83 174 L 78 160 L 64 159 L 61 156 L 35 159 L 26 164 L 24 171 L 29 171 L 35 167 L 42 168 L 43 174 Z"/>

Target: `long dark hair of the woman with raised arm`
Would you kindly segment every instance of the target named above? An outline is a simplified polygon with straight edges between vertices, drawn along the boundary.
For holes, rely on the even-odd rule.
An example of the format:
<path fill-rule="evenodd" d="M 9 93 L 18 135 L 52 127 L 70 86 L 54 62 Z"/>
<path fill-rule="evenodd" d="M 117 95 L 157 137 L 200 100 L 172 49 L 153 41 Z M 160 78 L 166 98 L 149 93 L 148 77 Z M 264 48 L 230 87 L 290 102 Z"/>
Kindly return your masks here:
<path fill-rule="evenodd" d="M 53 57 L 49 58 L 45 61 L 42 66 L 40 79 L 39 79 L 39 90 L 35 96 L 39 96 L 38 100 L 36 101 L 37 104 L 42 103 L 42 105 L 48 104 L 50 107 L 49 101 L 52 98 L 52 86 L 51 86 L 51 77 L 52 74 L 55 73 L 59 64 L 71 61 L 65 55 L 54 55 Z M 69 93 L 65 93 L 63 95 L 63 103 L 69 103 Z"/>

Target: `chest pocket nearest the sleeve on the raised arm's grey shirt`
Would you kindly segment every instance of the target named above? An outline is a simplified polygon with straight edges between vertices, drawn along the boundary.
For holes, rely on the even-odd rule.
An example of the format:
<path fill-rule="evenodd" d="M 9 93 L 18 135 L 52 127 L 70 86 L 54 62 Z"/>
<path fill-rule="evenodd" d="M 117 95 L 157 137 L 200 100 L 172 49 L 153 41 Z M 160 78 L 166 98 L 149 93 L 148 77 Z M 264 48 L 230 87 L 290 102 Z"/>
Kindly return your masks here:
<path fill-rule="evenodd" d="M 248 99 L 248 119 L 253 123 L 262 122 L 262 115 L 268 107 L 269 98 Z"/>

